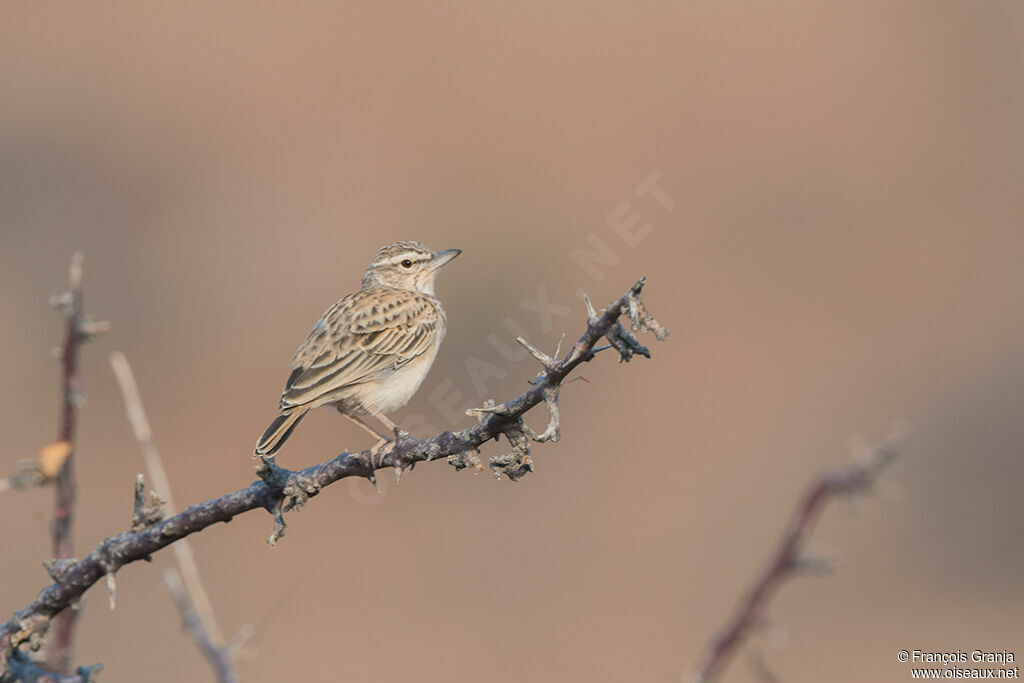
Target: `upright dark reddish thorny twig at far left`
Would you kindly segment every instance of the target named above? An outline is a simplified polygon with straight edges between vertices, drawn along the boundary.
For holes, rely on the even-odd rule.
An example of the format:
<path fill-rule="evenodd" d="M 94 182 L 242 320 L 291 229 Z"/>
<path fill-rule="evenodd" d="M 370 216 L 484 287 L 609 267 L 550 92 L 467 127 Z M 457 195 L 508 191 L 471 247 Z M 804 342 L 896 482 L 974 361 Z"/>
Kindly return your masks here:
<path fill-rule="evenodd" d="M 78 374 L 78 354 L 82 344 L 93 336 L 105 332 L 110 326 L 94 323 L 86 317 L 82 296 L 81 252 L 76 252 L 71 260 L 68 273 L 68 291 L 51 297 L 50 305 L 68 321 L 67 334 L 61 349 L 63 411 L 60 417 L 59 442 L 68 445 L 68 453 L 56 475 L 56 509 L 53 513 L 53 557 L 66 559 L 72 556 L 72 524 L 74 521 L 75 498 L 75 423 L 78 408 L 82 403 L 81 384 Z M 72 639 L 74 636 L 77 609 L 66 608 L 53 620 L 51 638 L 47 643 L 46 660 L 50 669 L 65 674 L 71 667 Z"/>

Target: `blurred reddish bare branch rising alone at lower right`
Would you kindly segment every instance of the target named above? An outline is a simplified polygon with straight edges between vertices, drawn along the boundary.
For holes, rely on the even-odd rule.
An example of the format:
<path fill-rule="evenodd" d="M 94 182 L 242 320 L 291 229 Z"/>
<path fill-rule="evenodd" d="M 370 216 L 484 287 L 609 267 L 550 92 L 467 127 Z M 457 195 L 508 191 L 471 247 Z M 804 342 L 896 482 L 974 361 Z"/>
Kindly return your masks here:
<path fill-rule="evenodd" d="M 827 559 L 810 556 L 804 551 L 814 523 L 833 499 L 852 497 L 871 488 L 879 473 L 903 451 L 906 437 L 906 426 L 897 424 L 881 444 L 873 449 L 865 447 L 861 453 L 855 454 L 857 462 L 825 471 L 811 483 L 790 517 L 768 566 L 709 646 L 705 660 L 696 673 L 696 683 L 717 680 L 751 632 L 764 626 L 764 611 L 768 601 L 783 581 L 798 572 L 820 573 L 831 568 Z"/>

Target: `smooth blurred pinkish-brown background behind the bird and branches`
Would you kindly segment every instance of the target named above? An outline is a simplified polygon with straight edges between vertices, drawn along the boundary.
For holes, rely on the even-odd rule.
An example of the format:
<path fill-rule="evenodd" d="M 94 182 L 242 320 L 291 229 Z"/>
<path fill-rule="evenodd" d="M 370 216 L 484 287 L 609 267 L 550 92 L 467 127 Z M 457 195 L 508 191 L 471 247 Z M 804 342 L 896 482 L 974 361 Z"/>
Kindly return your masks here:
<path fill-rule="evenodd" d="M 108 354 L 133 361 L 180 503 L 249 483 L 291 353 L 375 250 L 464 254 L 401 414 L 518 393 L 511 317 L 548 348 L 646 274 L 673 330 L 563 392 L 518 484 L 425 465 L 194 537 L 246 681 L 675 681 L 846 438 L 914 427 L 895 501 L 828 511 L 827 579 L 743 650 L 787 681 L 905 680 L 901 648 L 1024 656 L 1024 7 L 906 3 L 128 3 L 0 10 L 0 471 L 56 435 L 72 252 L 89 312 L 80 551 L 126 527 L 142 464 Z M 674 203 L 635 187 L 652 173 Z M 624 202 L 651 229 L 630 247 Z M 603 241 L 596 281 L 570 256 Z M 522 307 L 570 307 L 550 330 Z M 559 311 L 561 312 L 561 311 Z M 470 365 L 475 361 L 470 360 Z M 450 383 L 445 383 L 449 380 Z M 531 416 L 543 424 L 543 413 Z M 368 442 L 322 411 L 281 460 Z M 504 443 L 502 444 L 504 445 Z M 490 444 L 485 456 L 502 453 Z M 52 492 L 0 496 L 0 613 L 47 582 Z M 104 681 L 211 674 L 153 565 L 86 600 Z"/>

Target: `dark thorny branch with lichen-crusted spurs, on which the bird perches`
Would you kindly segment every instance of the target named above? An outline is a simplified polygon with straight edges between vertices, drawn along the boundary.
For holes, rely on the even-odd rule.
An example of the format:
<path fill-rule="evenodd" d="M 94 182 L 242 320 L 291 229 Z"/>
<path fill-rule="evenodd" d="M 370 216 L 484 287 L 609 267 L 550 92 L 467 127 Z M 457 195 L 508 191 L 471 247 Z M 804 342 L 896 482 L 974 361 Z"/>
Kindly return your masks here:
<path fill-rule="evenodd" d="M 62 567 L 54 575 L 52 585 L 43 589 L 27 607 L 16 611 L 0 626 L 0 670 L 3 657 L 23 644 L 38 639 L 50 624 L 52 616 L 79 600 L 81 596 L 108 573 L 124 564 L 150 557 L 175 541 L 196 533 L 216 522 L 228 522 L 236 515 L 263 508 L 274 519 L 268 539 L 272 546 L 285 532 L 284 513 L 302 507 L 308 499 L 340 479 L 361 476 L 374 479 L 377 469 L 392 467 L 396 473 L 412 469 L 416 463 L 433 461 L 451 456 L 449 462 L 457 469 L 472 462 L 475 456 L 467 455 L 501 434 L 513 444 L 505 456 L 492 458 L 496 475 L 507 474 L 515 479 L 532 470 L 529 459 L 529 438 L 532 432 L 523 423 L 523 415 L 531 408 L 545 402 L 549 409 L 549 425 L 544 434 L 555 440 L 558 433 L 557 388 L 581 364 L 591 360 L 601 349 L 598 341 L 607 338 L 620 351 L 621 360 L 629 360 L 634 352 L 649 355 L 649 351 L 618 324 L 623 314 L 629 316 L 631 329 L 648 330 L 662 340 L 669 331 L 662 327 L 647 311 L 640 300 L 646 280 L 641 279 L 625 294 L 612 301 L 602 312 L 588 304 L 587 329 L 562 358 L 551 358 L 544 371 L 534 380 L 523 394 L 497 405 L 486 405 L 476 412 L 477 423 L 460 431 L 445 431 L 427 439 L 403 436 L 392 442 L 383 454 L 342 453 L 318 465 L 303 470 L 287 470 L 273 458 L 264 458 L 258 469 L 261 480 L 240 490 L 226 494 L 204 503 L 185 508 L 180 513 L 140 529 L 125 530 L 110 537 L 80 561 Z M 557 353 L 556 353 L 557 355 Z M 479 462 L 478 460 L 476 461 Z"/>

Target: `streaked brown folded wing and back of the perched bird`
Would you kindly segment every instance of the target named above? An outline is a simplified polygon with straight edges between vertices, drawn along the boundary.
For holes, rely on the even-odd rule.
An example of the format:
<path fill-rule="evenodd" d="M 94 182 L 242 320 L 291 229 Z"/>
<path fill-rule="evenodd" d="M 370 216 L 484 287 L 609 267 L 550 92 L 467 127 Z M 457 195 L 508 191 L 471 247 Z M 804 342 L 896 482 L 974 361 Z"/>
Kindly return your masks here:
<path fill-rule="evenodd" d="M 416 292 L 359 290 L 328 309 L 292 359 L 281 408 L 380 379 L 428 351 L 443 313 Z"/>

